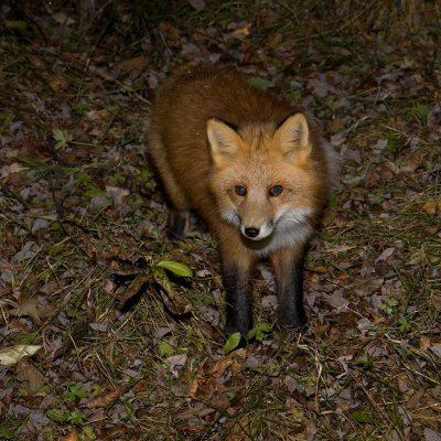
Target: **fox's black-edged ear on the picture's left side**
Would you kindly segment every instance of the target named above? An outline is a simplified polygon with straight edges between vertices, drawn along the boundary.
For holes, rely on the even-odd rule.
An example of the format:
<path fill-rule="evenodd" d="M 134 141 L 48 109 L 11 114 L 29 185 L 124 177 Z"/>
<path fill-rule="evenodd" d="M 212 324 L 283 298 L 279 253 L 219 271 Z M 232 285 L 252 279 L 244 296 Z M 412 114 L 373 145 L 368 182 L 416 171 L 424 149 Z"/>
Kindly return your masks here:
<path fill-rule="evenodd" d="M 239 133 L 228 123 L 216 118 L 207 121 L 207 137 L 216 166 L 224 166 L 228 160 L 235 158 L 243 144 Z"/>

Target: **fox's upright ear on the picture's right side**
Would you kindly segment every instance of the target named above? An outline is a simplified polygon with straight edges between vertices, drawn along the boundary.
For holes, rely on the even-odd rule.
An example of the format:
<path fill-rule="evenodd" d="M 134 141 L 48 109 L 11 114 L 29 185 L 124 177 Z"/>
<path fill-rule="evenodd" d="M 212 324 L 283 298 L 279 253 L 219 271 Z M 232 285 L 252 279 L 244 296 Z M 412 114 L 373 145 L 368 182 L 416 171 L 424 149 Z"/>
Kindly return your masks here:
<path fill-rule="evenodd" d="M 276 130 L 273 142 L 290 161 L 306 160 L 311 153 L 310 130 L 303 114 L 289 116 Z"/>

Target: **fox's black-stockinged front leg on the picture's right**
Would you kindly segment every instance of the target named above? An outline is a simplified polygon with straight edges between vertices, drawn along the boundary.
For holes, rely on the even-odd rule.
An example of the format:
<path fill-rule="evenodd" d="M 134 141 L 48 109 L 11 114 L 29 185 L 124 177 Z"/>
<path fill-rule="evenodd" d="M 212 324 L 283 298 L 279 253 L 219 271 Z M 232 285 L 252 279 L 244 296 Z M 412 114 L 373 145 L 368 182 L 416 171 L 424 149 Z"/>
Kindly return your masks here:
<path fill-rule="evenodd" d="M 271 255 L 279 299 L 279 322 L 283 327 L 303 327 L 303 247 L 283 249 Z"/>

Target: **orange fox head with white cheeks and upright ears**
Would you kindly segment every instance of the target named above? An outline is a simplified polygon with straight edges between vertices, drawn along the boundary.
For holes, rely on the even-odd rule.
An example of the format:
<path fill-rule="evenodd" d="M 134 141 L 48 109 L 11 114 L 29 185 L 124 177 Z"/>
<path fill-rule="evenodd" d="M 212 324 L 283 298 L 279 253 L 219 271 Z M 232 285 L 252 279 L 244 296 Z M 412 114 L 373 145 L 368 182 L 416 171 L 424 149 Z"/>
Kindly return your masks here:
<path fill-rule="evenodd" d="M 207 138 L 211 190 L 220 216 L 246 239 L 288 237 L 314 213 L 310 131 L 302 114 L 236 129 L 212 118 Z"/>

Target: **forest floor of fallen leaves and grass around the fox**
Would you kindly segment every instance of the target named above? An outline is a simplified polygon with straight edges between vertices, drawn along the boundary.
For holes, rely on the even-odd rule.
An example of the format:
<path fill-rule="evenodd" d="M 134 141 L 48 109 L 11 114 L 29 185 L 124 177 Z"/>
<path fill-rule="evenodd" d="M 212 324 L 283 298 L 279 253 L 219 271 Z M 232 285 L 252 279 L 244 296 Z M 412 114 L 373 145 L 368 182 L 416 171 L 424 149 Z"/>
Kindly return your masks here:
<path fill-rule="evenodd" d="M 0 6 L 0 439 L 440 441 L 440 6 L 18 3 Z M 228 352 L 216 241 L 198 222 L 166 238 L 146 122 L 185 63 L 303 106 L 342 157 L 303 335 L 273 326 L 262 262 L 255 337 Z"/>

